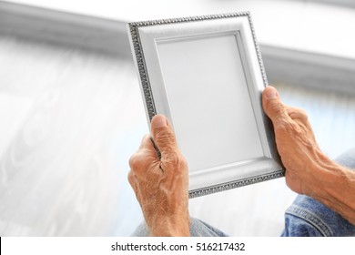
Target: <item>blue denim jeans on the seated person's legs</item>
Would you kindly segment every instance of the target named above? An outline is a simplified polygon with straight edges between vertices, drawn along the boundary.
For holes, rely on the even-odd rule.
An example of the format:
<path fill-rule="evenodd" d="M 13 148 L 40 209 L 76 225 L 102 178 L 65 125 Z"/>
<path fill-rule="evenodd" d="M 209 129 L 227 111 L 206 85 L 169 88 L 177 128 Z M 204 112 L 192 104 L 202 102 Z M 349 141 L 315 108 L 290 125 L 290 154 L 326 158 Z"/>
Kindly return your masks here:
<path fill-rule="evenodd" d="M 355 149 L 337 158 L 340 165 L 355 169 Z M 355 195 L 354 195 L 355 198 Z M 138 226 L 133 236 L 148 236 L 145 223 Z M 220 230 L 206 222 L 191 218 L 190 235 L 192 237 L 225 237 Z M 319 201 L 299 195 L 285 212 L 285 230 L 282 237 L 340 237 L 355 236 L 355 226 L 340 214 L 327 208 Z"/>

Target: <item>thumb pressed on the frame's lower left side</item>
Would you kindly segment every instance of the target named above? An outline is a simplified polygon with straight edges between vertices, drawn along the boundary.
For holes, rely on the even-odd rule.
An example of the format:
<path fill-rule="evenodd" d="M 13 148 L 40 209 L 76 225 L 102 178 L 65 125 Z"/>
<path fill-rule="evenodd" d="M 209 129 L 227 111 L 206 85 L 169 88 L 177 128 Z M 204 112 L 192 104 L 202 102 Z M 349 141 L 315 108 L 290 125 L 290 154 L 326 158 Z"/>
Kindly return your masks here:
<path fill-rule="evenodd" d="M 169 153 L 175 153 L 177 151 L 177 139 L 167 121 L 167 117 L 163 115 L 153 117 L 151 121 L 151 132 L 162 158 L 165 158 Z"/>

